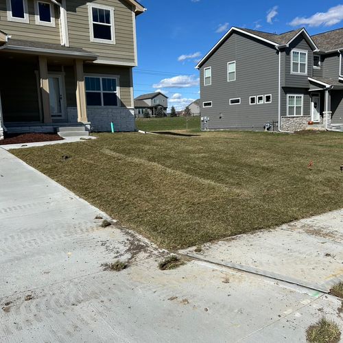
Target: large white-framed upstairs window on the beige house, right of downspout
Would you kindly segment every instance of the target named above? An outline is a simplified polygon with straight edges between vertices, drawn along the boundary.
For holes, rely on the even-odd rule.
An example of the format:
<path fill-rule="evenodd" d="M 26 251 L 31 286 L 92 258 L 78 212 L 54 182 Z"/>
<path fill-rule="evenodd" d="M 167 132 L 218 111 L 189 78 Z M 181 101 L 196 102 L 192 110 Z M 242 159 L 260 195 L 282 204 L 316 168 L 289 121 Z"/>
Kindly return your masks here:
<path fill-rule="evenodd" d="M 91 42 L 115 44 L 114 9 L 104 5 L 88 5 Z"/>

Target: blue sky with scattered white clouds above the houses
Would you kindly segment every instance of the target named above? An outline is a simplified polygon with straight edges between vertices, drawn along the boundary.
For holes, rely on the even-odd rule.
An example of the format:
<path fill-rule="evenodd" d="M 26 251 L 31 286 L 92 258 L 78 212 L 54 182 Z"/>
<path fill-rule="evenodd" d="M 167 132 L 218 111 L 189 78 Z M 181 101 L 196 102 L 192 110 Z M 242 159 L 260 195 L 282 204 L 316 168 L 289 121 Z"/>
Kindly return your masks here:
<path fill-rule="evenodd" d="M 343 26 L 342 0 L 141 2 L 147 12 L 137 18 L 134 96 L 160 90 L 176 109 L 199 97 L 196 62 L 231 26 L 278 34 L 298 27 L 316 34 Z"/>

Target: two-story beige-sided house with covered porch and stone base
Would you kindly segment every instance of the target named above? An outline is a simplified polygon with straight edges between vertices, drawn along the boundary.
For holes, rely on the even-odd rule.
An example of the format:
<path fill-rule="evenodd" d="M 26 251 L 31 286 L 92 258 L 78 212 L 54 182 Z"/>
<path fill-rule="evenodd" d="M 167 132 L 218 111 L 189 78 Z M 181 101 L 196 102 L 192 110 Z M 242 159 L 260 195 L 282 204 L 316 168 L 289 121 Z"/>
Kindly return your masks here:
<path fill-rule="evenodd" d="M 134 130 L 135 0 L 0 0 L 0 138 Z M 72 130 L 71 130 L 72 131 Z"/>

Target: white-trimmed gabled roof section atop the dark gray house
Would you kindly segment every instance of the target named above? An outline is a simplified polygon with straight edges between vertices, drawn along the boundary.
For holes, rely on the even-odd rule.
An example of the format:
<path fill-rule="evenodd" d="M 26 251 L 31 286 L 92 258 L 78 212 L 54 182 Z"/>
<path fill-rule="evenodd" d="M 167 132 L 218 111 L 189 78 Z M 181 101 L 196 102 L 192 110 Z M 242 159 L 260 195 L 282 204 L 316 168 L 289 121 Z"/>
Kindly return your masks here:
<path fill-rule="evenodd" d="M 257 31 L 255 29 L 246 29 L 242 27 L 231 27 L 224 36 L 217 42 L 217 44 L 209 51 L 202 60 L 197 64 L 196 68 L 200 69 L 202 67 L 202 64 L 206 62 L 214 53 L 217 51 L 217 49 L 220 48 L 222 44 L 226 41 L 226 39 L 230 36 L 230 34 L 233 34 L 233 32 L 240 32 L 241 34 L 247 34 L 248 36 L 252 36 L 254 38 L 257 38 L 259 40 L 262 40 L 265 43 L 268 43 L 270 45 L 273 45 L 276 48 L 279 47 L 285 47 L 288 46 L 292 41 L 299 36 L 300 34 L 304 34 L 307 43 L 311 45 L 312 49 L 318 50 L 318 46 L 314 42 L 314 40 L 309 36 L 306 29 L 303 27 L 301 29 L 294 29 L 293 31 L 285 32 L 283 34 L 272 34 L 270 32 L 263 32 L 263 31 Z"/>

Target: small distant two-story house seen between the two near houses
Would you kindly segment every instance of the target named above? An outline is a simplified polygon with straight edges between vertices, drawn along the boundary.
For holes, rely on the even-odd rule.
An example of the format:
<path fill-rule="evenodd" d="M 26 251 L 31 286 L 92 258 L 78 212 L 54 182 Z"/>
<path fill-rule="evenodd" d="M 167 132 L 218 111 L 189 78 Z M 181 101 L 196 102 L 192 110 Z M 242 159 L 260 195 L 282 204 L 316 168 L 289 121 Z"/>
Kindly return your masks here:
<path fill-rule="evenodd" d="M 143 117 L 145 109 L 154 117 L 157 108 L 163 109 L 163 116 L 167 115 L 168 97 L 161 92 L 143 94 L 134 99 L 134 115 L 137 118 Z"/>

